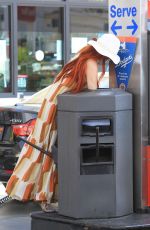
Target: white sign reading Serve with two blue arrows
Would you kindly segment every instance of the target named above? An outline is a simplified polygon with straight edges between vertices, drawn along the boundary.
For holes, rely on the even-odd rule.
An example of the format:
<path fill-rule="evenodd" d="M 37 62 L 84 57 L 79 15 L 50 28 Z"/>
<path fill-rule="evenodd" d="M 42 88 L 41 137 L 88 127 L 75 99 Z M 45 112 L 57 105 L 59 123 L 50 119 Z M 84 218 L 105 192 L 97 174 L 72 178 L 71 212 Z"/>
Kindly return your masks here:
<path fill-rule="evenodd" d="M 117 36 L 139 34 L 140 1 L 109 0 L 109 32 Z"/>

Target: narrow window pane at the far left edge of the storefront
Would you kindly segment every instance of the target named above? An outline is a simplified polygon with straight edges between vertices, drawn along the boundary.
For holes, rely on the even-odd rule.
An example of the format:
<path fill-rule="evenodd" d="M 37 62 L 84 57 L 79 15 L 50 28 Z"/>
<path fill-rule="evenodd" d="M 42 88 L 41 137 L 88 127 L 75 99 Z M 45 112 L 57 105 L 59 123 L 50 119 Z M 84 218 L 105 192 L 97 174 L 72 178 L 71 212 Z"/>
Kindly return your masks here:
<path fill-rule="evenodd" d="M 0 93 L 11 92 L 10 7 L 0 6 Z"/>

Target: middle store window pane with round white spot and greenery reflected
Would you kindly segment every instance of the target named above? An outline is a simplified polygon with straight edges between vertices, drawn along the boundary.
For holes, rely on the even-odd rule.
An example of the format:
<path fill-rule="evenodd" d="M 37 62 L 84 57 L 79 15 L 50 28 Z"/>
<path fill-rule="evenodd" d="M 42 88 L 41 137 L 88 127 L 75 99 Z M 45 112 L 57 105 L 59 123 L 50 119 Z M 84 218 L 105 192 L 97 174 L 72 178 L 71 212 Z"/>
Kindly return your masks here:
<path fill-rule="evenodd" d="M 18 91 L 52 83 L 63 65 L 61 8 L 18 7 Z"/>

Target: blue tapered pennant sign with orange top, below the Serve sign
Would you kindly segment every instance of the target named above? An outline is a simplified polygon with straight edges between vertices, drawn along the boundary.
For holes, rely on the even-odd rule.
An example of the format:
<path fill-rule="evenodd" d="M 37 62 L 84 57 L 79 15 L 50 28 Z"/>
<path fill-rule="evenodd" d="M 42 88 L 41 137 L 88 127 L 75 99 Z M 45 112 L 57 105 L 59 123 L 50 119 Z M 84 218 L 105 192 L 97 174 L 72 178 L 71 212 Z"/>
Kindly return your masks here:
<path fill-rule="evenodd" d="M 126 89 L 130 79 L 131 69 L 134 61 L 136 50 L 135 37 L 120 37 L 120 62 L 115 66 L 117 85 L 119 88 Z"/>

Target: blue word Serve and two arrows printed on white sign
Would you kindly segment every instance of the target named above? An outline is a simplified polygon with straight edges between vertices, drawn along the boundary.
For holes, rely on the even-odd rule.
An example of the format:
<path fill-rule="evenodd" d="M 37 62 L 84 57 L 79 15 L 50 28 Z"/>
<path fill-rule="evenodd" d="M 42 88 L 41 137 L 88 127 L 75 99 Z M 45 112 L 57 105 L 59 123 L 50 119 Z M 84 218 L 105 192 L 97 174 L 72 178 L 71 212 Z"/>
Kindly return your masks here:
<path fill-rule="evenodd" d="M 115 5 L 110 6 L 110 17 L 112 19 L 115 19 L 111 25 L 112 32 L 117 35 L 117 32 L 122 29 L 130 30 L 132 35 L 135 34 L 135 32 L 138 29 L 138 25 L 135 21 L 135 18 L 137 16 L 137 8 L 135 6 L 133 7 L 117 7 Z M 125 19 L 125 18 L 131 18 L 131 22 L 129 25 L 125 25 L 125 28 L 118 24 L 117 19 Z M 120 21 L 120 20 L 119 20 Z M 122 20 L 124 21 L 124 20 Z"/>

